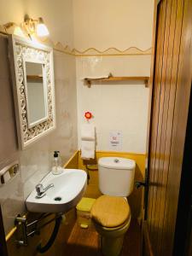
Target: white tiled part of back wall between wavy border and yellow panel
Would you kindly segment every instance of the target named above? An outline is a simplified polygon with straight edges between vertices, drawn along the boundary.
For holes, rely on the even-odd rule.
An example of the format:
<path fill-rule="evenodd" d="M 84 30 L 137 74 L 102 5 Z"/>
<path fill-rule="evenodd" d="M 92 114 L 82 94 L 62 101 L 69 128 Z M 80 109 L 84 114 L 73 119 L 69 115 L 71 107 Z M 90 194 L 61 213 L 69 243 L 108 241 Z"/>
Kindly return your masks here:
<path fill-rule="evenodd" d="M 97 150 L 111 151 L 110 131 L 121 131 L 122 146 L 119 151 L 145 153 L 148 88 L 143 82 L 113 82 L 84 86 L 82 77 L 108 74 L 115 76 L 149 75 L 150 56 L 110 56 L 77 58 L 77 89 L 80 127 L 86 122 L 84 113 L 90 111 L 96 125 Z"/>

